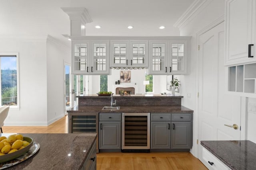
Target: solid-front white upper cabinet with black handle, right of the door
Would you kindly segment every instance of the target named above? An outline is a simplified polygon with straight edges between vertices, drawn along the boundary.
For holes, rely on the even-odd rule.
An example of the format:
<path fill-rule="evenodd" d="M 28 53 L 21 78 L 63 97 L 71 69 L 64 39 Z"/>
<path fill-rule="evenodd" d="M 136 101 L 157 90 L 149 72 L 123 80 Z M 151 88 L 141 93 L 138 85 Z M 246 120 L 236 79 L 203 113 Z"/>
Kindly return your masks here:
<path fill-rule="evenodd" d="M 226 0 L 226 66 L 256 62 L 255 6 L 255 0 Z"/>

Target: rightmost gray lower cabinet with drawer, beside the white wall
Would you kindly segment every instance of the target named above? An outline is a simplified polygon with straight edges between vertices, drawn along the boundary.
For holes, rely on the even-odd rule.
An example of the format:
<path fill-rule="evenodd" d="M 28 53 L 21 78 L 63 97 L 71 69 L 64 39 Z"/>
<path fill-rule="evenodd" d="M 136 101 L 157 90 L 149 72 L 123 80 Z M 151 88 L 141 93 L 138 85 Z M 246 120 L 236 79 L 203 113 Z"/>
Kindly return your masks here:
<path fill-rule="evenodd" d="M 171 149 L 192 148 L 192 114 L 172 114 Z"/>

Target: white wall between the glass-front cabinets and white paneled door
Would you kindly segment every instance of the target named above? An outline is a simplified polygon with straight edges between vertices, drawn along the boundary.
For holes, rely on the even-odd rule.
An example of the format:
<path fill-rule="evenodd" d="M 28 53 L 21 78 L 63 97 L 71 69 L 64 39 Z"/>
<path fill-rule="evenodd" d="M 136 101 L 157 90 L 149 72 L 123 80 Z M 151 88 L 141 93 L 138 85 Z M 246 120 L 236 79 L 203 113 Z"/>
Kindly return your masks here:
<path fill-rule="evenodd" d="M 180 76 L 180 83 L 182 84 L 180 95 L 184 96 L 182 99 L 182 106 L 194 110 L 193 148 L 190 152 L 196 157 L 198 155 L 198 145 L 196 144 L 196 140 L 198 139 L 198 111 L 196 110 L 196 101 L 198 100 L 198 87 L 196 85 L 196 71 L 198 68 L 196 65 L 196 33 L 224 15 L 224 2 L 224 0 L 208 0 L 206 3 L 208 5 L 200 9 L 199 14 L 197 14 L 186 25 L 180 28 L 180 35 L 192 36 L 190 59 L 188 59 L 189 74 Z M 187 95 L 190 97 L 187 97 Z"/>

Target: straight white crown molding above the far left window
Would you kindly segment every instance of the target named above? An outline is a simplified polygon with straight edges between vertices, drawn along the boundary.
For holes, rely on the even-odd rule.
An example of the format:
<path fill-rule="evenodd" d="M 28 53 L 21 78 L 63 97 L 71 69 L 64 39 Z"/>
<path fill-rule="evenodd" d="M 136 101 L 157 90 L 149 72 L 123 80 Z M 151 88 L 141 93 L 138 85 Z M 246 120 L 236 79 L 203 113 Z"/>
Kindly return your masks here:
<path fill-rule="evenodd" d="M 44 34 L 0 34 L 0 41 L 46 41 Z"/>

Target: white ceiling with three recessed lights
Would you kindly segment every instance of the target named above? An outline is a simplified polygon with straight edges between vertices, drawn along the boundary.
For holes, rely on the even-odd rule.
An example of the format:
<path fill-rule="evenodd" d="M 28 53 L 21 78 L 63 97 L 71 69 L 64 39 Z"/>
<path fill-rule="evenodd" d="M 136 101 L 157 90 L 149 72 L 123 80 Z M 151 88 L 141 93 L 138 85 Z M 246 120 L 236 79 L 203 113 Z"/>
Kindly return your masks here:
<path fill-rule="evenodd" d="M 194 0 L 0 0 L 0 34 L 44 34 L 70 46 L 69 16 L 61 7 L 86 8 L 86 35 L 180 35 L 174 23 Z M 100 25 L 100 29 L 95 26 Z M 127 26 L 132 25 L 133 29 Z M 164 25 L 165 29 L 159 29 Z"/>

